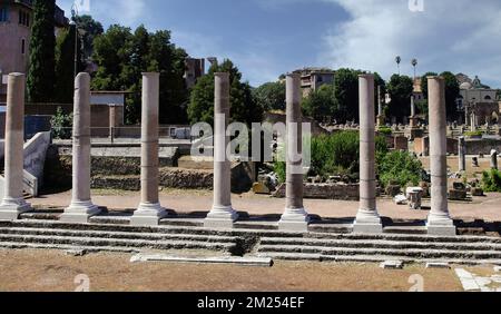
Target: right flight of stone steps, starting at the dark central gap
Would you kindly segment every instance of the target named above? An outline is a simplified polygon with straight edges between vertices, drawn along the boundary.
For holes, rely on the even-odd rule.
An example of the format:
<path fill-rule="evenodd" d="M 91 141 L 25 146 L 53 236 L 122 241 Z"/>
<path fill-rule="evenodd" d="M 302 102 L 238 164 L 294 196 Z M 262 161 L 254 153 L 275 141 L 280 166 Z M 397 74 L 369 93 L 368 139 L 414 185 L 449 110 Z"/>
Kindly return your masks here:
<path fill-rule="evenodd" d="M 480 236 L 435 237 L 414 234 L 320 235 L 263 237 L 256 248 L 262 257 L 320 262 L 446 262 L 500 264 L 501 238 Z"/>

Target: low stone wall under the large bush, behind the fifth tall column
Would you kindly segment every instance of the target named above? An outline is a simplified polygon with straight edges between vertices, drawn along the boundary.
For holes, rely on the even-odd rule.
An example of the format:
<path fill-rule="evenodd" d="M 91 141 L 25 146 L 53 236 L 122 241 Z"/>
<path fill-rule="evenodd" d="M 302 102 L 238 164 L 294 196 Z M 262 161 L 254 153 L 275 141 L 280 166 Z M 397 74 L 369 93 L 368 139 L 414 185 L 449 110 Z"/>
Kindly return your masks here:
<path fill-rule="evenodd" d="M 286 189 L 285 184 L 281 185 L 273 196 L 284 198 L 285 189 Z M 350 185 L 305 184 L 304 198 L 360 200 L 360 186 L 357 184 L 350 184 Z"/>

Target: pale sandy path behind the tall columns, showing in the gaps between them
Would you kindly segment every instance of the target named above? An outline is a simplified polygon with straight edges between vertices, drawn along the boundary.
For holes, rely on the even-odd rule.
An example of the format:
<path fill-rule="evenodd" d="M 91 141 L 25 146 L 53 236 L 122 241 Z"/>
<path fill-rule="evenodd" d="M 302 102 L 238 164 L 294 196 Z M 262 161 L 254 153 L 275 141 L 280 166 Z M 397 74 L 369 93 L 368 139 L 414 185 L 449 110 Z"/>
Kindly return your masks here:
<path fill-rule="evenodd" d="M 95 204 L 110 209 L 131 209 L 139 204 L 139 193 L 117 190 L 94 190 Z M 65 207 L 71 199 L 70 192 L 45 195 L 30 199 L 32 205 Z M 213 204 L 210 192 L 206 190 L 177 190 L 168 189 L 160 193 L 163 206 L 178 213 L 207 212 Z M 282 214 L 284 199 L 269 196 L 254 195 L 252 193 L 233 195 L 235 209 L 248 212 L 252 215 Z M 328 218 L 355 217 L 358 208 L 357 202 L 306 199 L 305 206 L 310 214 Z M 429 206 L 424 200 L 423 206 Z M 393 219 L 426 219 L 429 210 L 411 210 L 407 206 L 395 205 L 391 199 L 379 199 L 379 210 L 382 216 Z M 487 197 L 477 197 L 470 203 L 450 203 L 453 218 L 481 218 L 490 222 L 501 220 L 501 194 L 489 194 Z"/>

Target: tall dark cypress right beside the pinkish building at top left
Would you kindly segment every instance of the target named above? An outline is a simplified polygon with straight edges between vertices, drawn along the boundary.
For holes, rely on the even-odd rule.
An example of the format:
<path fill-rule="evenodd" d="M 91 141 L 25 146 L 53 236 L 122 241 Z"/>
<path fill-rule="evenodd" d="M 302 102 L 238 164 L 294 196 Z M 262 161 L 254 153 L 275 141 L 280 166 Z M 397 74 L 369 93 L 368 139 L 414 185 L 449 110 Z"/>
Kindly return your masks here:
<path fill-rule="evenodd" d="M 53 101 L 56 84 L 56 0 L 33 1 L 33 24 L 30 40 L 30 67 L 27 79 L 31 102 Z"/>

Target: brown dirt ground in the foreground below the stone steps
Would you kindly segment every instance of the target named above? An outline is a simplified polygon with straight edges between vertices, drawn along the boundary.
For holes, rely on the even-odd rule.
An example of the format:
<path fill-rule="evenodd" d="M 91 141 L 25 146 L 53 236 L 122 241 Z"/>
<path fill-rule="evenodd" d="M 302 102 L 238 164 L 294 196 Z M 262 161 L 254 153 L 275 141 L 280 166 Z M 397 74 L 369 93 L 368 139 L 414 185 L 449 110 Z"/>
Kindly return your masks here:
<path fill-rule="evenodd" d="M 129 262 L 127 254 L 68 256 L 0 249 L 0 291 L 73 292 L 461 292 L 453 269 L 279 262 L 273 267 Z M 6 272 L 4 269 L 9 269 Z M 229 279 L 230 278 L 230 279 Z M 84 281 L 81 281 L 84 279 Z"/>

